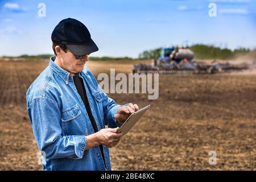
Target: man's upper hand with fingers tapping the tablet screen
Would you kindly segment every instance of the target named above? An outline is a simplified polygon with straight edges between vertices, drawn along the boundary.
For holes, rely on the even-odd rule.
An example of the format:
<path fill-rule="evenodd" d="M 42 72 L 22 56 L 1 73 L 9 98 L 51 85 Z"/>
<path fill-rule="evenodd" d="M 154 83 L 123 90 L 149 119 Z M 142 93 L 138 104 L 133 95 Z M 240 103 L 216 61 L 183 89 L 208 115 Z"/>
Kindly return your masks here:
<path fill-rule="evenodd" d="M 117 114 L 114 115 L 119 125 L 122 125 L 129 116 L 135 111 L 139 110 L 137 104 L 128 104 L 127 106 L 120 107 L 117 109 Z"/>

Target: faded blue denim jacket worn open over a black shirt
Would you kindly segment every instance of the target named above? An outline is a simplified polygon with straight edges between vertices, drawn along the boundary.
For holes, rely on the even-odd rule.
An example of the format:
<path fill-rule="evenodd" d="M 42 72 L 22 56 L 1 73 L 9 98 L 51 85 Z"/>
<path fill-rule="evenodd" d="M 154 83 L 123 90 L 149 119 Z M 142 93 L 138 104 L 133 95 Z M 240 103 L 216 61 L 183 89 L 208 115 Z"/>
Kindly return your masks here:
<path fill-rule="evenodd" d="M 53 62 L 27 90 L 27 112 L 42 151 L 44 170 L 111 170 L 109 148 L 103 146 L 106 168 L 99 146 L 84 151 L 86 135 L 94 133 L 73 77 Z M 98 130 L 120 127 L 115 104 L 98 86 L 93 74 L 84 68 L 83 78 L 90 108 Z"/>

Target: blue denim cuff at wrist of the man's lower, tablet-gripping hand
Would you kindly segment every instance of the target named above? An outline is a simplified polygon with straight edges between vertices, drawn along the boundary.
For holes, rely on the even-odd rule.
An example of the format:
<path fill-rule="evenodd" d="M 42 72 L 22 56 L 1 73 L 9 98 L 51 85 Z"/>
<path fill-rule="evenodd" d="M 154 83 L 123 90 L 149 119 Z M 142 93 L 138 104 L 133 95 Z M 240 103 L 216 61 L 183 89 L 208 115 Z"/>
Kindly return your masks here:
<path fill-rule="evenodd" d="M 86 146 L 86 138 L 84 135 L 73 135 L 73 140 L 75 144 L 75 153 L 77 159 L 81 159 L 84 155 L 84 149 Z"/>

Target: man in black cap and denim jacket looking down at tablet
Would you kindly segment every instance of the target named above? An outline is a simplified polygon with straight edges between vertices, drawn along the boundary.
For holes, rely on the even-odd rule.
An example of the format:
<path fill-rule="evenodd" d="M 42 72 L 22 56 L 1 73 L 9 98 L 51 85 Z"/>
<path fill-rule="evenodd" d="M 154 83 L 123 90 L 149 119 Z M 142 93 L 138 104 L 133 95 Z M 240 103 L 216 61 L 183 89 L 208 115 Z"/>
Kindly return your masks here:
<path fill-rule="evenodd" d="M 43 169 L 111 170 L 109 148 L 122 137 L 118 127 L 139 108 L 115 104 L 84 67 L 88 55 L 98 51 L 84 24 L 61 20 L 51 38 L 55 56 L 27 90 Z"/>

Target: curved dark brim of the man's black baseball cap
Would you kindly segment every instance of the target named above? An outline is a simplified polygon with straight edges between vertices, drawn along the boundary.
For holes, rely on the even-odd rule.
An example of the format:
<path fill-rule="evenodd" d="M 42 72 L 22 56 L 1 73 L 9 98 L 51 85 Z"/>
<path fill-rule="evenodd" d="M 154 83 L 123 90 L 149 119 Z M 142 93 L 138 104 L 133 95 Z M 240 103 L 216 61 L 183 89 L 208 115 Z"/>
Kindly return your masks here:
<path fill-rule="evenodd" d="M 98 51 L 98 47 L 92 39 L 84 44 L 66 44 L 66 46 L 69 51 L 71 51 L 76 56 L 88 55 L 89 53 Z"/>

